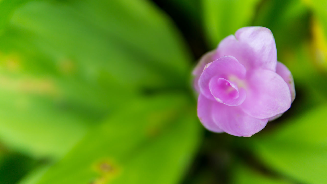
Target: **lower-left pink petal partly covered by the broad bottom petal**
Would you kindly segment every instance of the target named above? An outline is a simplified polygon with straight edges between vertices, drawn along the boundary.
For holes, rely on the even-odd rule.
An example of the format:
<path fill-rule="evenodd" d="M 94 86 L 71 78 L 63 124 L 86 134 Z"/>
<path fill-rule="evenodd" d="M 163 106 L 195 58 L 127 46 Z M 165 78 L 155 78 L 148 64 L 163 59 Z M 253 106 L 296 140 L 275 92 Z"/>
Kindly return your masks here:
<path fill-rule="evenodd" d="M 223 132 L 213 121 L 211 109 L 214 101 L 211 101 L 204 97 L 203 95 L 199 95 L 198 98 L 198 117 L 202 125 L 212 132 Z"/>

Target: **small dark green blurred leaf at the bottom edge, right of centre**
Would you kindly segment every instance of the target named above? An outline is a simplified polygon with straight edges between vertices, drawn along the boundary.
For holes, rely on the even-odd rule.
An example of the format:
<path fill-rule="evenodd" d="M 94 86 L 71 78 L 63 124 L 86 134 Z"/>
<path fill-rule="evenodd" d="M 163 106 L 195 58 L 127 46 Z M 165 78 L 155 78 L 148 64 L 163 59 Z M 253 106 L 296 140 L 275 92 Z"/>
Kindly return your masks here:
<path fill-rule="evenodd" d="M 276 178 L 274 175 L 267 175 L 263 171 L 255 170 L 242 161 L 233 166 L 231 184 L 292 184 L 286 179 Z"/>

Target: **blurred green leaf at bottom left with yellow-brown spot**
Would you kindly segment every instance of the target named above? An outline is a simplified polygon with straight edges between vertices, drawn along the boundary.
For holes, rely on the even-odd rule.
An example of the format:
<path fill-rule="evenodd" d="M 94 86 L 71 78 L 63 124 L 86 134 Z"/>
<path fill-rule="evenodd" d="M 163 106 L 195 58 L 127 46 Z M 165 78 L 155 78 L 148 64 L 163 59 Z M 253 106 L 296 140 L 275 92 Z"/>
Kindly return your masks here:
<path fill-rule="evenodd" d="M 132 101 L 91 131 L 37 183 L 176 183 L 199 141 L 184 95 Z"/>

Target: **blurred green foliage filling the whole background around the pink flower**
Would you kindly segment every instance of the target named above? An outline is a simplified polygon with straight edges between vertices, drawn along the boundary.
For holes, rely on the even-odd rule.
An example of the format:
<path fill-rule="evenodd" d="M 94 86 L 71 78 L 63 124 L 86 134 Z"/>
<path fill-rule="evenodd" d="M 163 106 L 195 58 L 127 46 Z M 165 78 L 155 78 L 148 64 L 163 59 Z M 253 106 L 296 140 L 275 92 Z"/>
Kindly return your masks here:
<path fill-rule="evenodd" d="M 191 71 L 274 34 L 296 99 L 251 138 L 196 114 Z M 327 1 L 0 0 L 0 184 L 327 183 Z"/>

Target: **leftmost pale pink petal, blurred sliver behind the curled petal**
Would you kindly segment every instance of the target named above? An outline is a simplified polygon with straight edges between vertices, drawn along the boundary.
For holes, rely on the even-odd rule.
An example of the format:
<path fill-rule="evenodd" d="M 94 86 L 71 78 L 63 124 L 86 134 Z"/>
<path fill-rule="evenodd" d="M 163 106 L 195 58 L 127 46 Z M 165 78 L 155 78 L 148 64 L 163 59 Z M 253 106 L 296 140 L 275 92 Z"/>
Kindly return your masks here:
<path fill-rule="evenodd" d="M 197 90 L 198 92 L 200 92 L 200 88 L 199 88 L 199 78 L 200 75 L 203 71 L 203 68 L 206 64 L 215 61 L 216 59 L 213 59 L 213 56 L 215 55 L 216 50 L 212 50 L 210 52 L 205 53 L 201 58 L 199 63 L 197 64 L 197 66 L 194 68 L 192 74 L 195 76 L 194 81 L 193 81 L 193 86 L 195 88 L 195 90 Z"/>

